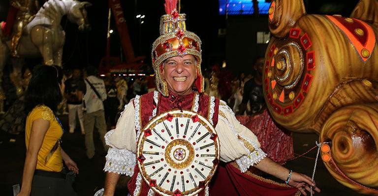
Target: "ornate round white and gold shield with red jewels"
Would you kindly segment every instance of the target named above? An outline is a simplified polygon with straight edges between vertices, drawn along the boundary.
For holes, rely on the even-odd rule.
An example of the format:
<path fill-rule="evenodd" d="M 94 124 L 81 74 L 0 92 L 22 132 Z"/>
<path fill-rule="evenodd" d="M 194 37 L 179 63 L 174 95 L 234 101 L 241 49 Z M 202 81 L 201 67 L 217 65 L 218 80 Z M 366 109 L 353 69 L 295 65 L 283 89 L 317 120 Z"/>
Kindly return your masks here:
<path fill-rule="evenodd" d="M 174 110 L 141 131 L 137 164 L 151 189 L 163 196 L 192 196 L 210 182 L 219 163 L 219 139 L 210 122 Z"/>

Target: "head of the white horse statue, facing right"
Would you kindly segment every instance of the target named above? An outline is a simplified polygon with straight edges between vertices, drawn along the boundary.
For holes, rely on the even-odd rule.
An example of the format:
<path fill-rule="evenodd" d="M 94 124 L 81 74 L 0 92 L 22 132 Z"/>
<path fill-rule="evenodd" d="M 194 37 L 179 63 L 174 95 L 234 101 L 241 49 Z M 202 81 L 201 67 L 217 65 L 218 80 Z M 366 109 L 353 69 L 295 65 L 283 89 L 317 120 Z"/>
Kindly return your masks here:
<path fill-rule="evenodd" d="M 80 31 L 90 31 L 91 25 L 89 24 L 88 18 L 87 18 L 87 10 L 86 8 L 88 6 L 91 6 L 92 3 L 84 1 L 79 2 L 77 0 L 74 0 L 75 3 L 72 4 L 72 7 L 69 9 L 69 12 L 67 13 L 68 20 L 72 23 L 76 23 L 79 25 Z"/>

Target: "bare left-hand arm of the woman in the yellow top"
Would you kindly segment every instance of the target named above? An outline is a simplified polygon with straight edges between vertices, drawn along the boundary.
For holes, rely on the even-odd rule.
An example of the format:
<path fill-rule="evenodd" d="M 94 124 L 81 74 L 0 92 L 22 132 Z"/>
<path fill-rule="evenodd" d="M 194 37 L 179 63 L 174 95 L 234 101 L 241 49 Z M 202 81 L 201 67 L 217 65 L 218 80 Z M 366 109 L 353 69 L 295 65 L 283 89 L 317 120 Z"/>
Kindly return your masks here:
<path fill-rule="evenodd" d="M 22 188 L 17 196 L 29 196 L 32 191 L 32 180 L 37 165 L 38 152 L 49 127 L 50 122 L 47 120 L 40 118 L 33 121 L 29 147 L 26 151 L 24 172 L 22 175 Z"/>

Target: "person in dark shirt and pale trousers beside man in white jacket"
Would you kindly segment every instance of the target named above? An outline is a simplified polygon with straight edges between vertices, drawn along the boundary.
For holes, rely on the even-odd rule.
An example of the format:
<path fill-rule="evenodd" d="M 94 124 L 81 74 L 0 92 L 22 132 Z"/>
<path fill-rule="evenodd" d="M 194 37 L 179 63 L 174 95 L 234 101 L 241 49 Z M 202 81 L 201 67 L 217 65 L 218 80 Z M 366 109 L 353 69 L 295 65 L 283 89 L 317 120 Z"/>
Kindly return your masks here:
<path fill-rule="evenodd" d="M 81 133 L 85 134 L 83 123 L 83 95 L 85 84 L 81 76 L 81 70 L 74 68 L 72 77 L 65 81 L 64 96 L 67 99 L 69 132 L 73 133 L 76 128 L 76 114 L 79 118 Z"/>

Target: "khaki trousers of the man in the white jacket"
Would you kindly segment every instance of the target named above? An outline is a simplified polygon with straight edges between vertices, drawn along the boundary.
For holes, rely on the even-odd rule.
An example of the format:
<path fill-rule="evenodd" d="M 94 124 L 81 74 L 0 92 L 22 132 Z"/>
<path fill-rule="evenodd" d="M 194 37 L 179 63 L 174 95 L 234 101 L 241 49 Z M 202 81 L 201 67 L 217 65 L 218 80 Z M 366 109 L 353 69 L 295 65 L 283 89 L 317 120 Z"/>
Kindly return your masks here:
<path fill-rule="evenodd" d="M 84 114 L 84 130 L 85 130 L 85 147 L 87 149 L 87 157 L 92 158 L 95 155 L 95 142 L 93 141 L 93 131 L 96 127 L 105 151 L 108 147 L 105 144 L 104 135 L 106 133 L 106 122 L 104 110 L 98 110 L 92 113 Z"/>

